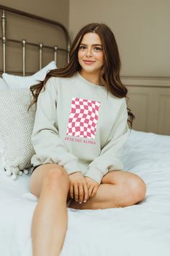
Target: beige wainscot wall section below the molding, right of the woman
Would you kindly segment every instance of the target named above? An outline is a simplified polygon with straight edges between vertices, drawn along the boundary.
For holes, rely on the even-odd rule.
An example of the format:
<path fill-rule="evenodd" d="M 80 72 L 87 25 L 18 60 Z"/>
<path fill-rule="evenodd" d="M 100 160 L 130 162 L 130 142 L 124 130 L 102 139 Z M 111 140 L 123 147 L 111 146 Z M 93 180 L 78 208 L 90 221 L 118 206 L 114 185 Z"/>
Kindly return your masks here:
<path fill-rule="evenodd" d="M 170 79 L 124 77 L 122 82 L 135 115 L 133 129 L 170 135 Z"/>

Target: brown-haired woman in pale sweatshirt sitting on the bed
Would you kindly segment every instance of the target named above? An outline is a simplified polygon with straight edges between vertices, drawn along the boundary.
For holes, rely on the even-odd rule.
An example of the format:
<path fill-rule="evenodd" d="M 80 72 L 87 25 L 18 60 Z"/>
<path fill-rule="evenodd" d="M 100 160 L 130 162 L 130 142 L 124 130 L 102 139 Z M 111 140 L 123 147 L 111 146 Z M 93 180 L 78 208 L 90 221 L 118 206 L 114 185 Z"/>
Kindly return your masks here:
<path fill-rule="evenodd" d="M 48 72 L 31 90 L 37 111 L 30 191 L 39 197 L 33 255 L 56 256 L 66 235 L 66 202 L 75 209 L 120 208 L 146 194 L 143 180 L 122 169 L 133 114 L 127 111 L 128 90 L 120 81 L 120 56 L 109 27 L 83 27 L 69 64 Z"/>

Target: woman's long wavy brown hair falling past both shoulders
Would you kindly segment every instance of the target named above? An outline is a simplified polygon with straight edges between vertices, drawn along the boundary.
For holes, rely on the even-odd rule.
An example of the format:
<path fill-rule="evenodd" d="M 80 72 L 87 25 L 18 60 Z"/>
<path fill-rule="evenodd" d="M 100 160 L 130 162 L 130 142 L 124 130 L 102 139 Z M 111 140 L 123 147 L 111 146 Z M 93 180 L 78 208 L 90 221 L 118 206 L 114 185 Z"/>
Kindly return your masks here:
<path fill-rule="evenodd" d="M 112 33 L 109 27 L 107 27 L 107 25 L 101 23 L 91 23 L 82 27 L 79 33 L 76 35 L 76 38 L 73 40 L 69 54 L 69 63 L 61 69 L 50 70 L 48 74 L 46 74 L 45 80 L 30 87 L 33 96 L 30 107 L 34 103 L 37 103 L 38 95 L 40 94 L 42 88 L 45 90 L 45 84 L 50 77 L 72 77 L 73 74 L 81 70 L 81 66 L 78 61 L 78 51 L 81 40 L 86 33 L 97 33 L 102 41 L 104 65 L 100 72 L 100 82 L 105 86 L 107 92 L 112 93 L 112 95 L 115 95 L 117 98 L 128 98 L 128 89 L 120 80 L 121 61 L 115 35 Z M 134 118 L 135 116 L 128 108 L 128 121 L 130 122 L 131 128 Z"/>

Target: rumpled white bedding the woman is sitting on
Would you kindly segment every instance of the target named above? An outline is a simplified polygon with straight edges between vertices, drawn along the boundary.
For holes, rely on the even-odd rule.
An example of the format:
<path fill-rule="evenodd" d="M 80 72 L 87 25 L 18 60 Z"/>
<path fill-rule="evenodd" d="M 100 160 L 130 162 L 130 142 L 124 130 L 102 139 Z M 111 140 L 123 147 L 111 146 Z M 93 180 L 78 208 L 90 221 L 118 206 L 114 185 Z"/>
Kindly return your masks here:
<path fill-rule="evenodd" d="M 132 130 L 124 169 L 147 184 L 138 205 L 104 210 L 68 208 L 61 256 L 170 255 L 170 136 Z M 31 256 L 31 222 L 37 204 L 29 176 L 13 181 L 0 171 L 0 255 Z"/>

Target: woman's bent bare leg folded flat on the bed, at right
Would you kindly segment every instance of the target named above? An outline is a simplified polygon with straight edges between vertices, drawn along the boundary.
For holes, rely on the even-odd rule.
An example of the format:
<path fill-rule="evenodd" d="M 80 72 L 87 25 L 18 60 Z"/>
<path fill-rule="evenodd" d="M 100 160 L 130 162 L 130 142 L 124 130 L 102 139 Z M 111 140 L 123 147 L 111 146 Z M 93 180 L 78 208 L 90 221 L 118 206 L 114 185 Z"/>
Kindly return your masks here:
<path fill-rule="evenodd" d="M 110 171 L 103 179 L 97 194 L 86 202 L 71 202 L 69 208 L 97 210 L 134 205 L 146 195 L 146 184 L 129 171 Z"/>

